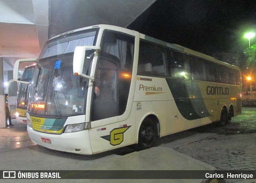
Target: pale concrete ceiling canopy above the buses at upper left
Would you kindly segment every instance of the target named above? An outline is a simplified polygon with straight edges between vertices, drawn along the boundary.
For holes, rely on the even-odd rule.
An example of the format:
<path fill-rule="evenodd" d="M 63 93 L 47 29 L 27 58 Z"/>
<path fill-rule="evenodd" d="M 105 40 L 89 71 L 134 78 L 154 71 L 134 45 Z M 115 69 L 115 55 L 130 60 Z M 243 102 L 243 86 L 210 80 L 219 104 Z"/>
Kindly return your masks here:
<path fill-rule="evenodd" d="M 48 38 L 76 28 L 127 27 L 155 0 L 0 0 L 0 57 L 4 70 L 38 58 Z"/>

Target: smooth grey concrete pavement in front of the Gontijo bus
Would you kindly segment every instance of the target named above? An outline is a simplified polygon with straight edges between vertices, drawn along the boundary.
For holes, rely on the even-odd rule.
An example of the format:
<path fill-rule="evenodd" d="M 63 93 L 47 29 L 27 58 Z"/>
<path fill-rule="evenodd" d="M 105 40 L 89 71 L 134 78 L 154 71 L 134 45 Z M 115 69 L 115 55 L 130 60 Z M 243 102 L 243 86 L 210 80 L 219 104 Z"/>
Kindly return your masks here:
<path fill-rule="evenodd" d="M 96 155 L 78 155 L 60 151 L 54 151 L 31 142 L 26 132 L 26 125 L 20 125 L 13 121 L 14 127 L 0 129 L 0 170 L 5 171 L 24 171 L 24 170 L 57 170 L 66 171 L 62 178 L 69 177 L 70 174 L 76 179 L 62 179 L 59 182 L 139 182 L 154 183 L 156 181 L 164 183 L 168 180 L 154 179 L 77 179 L 81 174 L 71 173 L 70 170 L 80 170 L 86 173 L 97 170 L 96 176 L 99 177 L 99 170 L 133 170 L 136 173 L 140 170 L 205 170 L 214 171 L 216 168 L 198 161 L 192 157 L 174 151 L 168 147 L 153 147 L 144 151 L 135 151 L 132 147 L 124 147 Z M 198 139 L 198 137 L 197 137 Z M 94 172 L 95 173 L 95 172 Z M 105 173 L 105 171 L 104 171 Z M 115 172 L 117 173 L 117 172 Z M 119 172 L 118 172 L 119 173 Z M 156 173 L 156 172 L 154 172 Z M 141 174 L 141 173 L 140 173 Z M 143 173 L 146 174 L 146 173 Z M 130 172 L 128 172 L 130 175 Z M 107 175 L 109 177 L 109 175 Z M 152 174 L 147 173 L 147 177 Z M 1 175 L 0 175 L 1 177 Z M 116 177 L 116 174 L 115 176 Z M 153 176 L 154 177 L 154 176 Z M 183 178 L 183 177 L 181 177 Z M 205 179 L 172 179 L 175 183 L 199 183 Z M 1 179 L 1 182 L 56 182 L 58 180 L 47 179 L 28 179 L 10 180 Z"/>

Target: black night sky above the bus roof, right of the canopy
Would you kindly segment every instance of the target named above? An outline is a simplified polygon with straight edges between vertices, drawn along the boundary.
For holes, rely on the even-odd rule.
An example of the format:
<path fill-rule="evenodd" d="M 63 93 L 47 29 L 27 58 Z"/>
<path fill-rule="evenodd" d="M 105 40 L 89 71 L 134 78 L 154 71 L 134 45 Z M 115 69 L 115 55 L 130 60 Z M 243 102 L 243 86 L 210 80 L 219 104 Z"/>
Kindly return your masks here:
<path fill-rule="evenodd" d="M 242 54 L 244 34 L 256 32 L 256 0 L 156 0 L 128 28 L 210 56 Z"/>

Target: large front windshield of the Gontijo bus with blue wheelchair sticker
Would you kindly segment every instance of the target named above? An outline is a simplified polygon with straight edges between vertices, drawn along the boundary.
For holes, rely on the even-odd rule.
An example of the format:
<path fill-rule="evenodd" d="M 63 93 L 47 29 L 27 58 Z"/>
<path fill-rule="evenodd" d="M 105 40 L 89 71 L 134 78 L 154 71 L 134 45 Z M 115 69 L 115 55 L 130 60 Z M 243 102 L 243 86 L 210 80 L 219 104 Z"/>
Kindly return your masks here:
<path fill-rule="evenodd" d="M 85 113 L 88 79 L 74 76 L 73 56 L 76 46 L 94 46 L 96 32 L 74 32 L 46 43 L 32 78 L 28 113 L 57 117 Z M 86 51 L 83 70 L 87 75 L 93 56 L 93 51 Z"/>

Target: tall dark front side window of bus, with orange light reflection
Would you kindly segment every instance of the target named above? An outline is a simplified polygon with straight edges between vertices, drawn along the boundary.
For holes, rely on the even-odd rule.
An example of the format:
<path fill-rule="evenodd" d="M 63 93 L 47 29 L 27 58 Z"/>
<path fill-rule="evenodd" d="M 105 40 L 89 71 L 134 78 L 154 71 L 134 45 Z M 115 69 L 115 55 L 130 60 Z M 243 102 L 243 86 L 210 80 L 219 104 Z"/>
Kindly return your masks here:
<path fill-rule="evenodd" d="M 133 36 L 104 31 L 94 81 L 92 121 L 124 113 L 132 79 L 134 41 Z"/>

